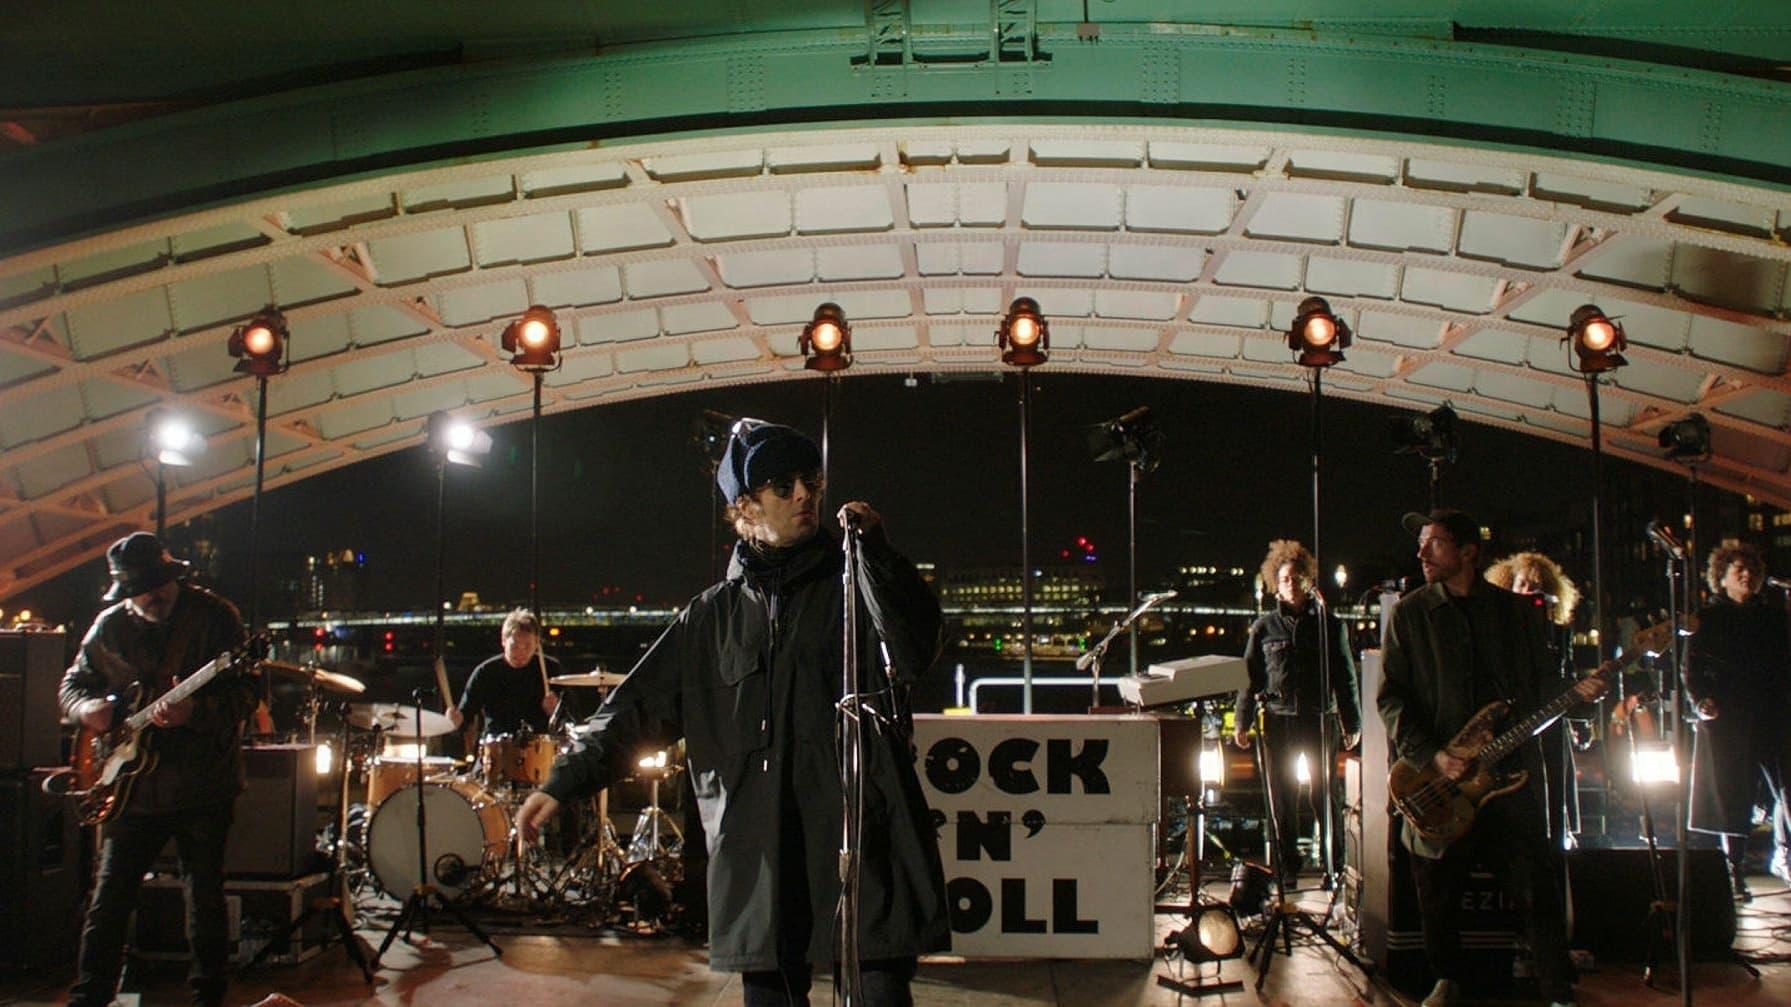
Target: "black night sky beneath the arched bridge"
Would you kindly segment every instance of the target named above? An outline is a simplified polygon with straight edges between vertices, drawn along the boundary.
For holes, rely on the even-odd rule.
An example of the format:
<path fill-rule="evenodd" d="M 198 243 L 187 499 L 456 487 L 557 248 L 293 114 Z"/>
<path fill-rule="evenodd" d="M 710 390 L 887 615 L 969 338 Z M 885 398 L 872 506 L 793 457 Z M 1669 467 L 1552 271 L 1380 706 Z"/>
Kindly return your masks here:
<path fill-rule="evenodd" d="M 707 460 L 691 443 L 700 410 L 801 426 L 818 439 L 818 380 L 777 382 L 604 405 L 543 419 L 543 604 L 600 602 L 618 586 L 632 600 L 681 602 L 709 582 Z M 1309 396 L 1161 378 L 1035 371 L 1032 439 L 1033 557 L 1089 536 L 1110 586 L 1125 582 L 1121 462 L 1096 464 L 1087 425 L 1148 405 L 1164 430 L 1162 466 L 1139 489 L 1139 579 L 1182 563 L 1254 568 L 1272 538 L 1309 538 Z M 1395 455 L 1392 409 L 1325 400 L 1325 577 L 1338 563 L 1352 584 L 1415 573 L 1404 511 L 1426 505 L 1426 466 Z M 896 545 L 940 566 L 1019 563 L 1017 383 L 919 376 L 844 378 L 835 396 L 829 498 L 861 498 Z M 528 423 L 491 430 L 484 469 L 448 473 L 448 591 L 485 602 L 528 597 Z M 1585 523 L 1581 448 L 1461 425 L 1461 457 L 1445 469 L 1444 504 L 1483 523 Z M 1682 480 L 1612 460 L 1671 512 Z M 1635 478 L 1626 480 L 1632 486 Z M 831 507 L 829 507 L 831 511 Z M 219 511 L 222 588 L 247 597 L 249 507 Z M 831 523 L 831 521 L 829 521 Z M 367 554 L 362 607 L 426 607 L 433 593 L 435 480 L 423 448 L 385 455 L 274 489 L 263 502 L 267 548 Z M 170 534 L 170 538 L 176 538 Z M 729 534 L 722 534 L 725 543 Z M 72 631 L 99 607 L 104 563 L 93 561 L 13 598 Z M 267 613 L 283 615 L 283 613 Z"/>

